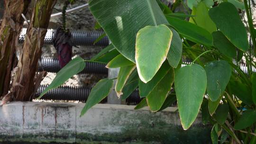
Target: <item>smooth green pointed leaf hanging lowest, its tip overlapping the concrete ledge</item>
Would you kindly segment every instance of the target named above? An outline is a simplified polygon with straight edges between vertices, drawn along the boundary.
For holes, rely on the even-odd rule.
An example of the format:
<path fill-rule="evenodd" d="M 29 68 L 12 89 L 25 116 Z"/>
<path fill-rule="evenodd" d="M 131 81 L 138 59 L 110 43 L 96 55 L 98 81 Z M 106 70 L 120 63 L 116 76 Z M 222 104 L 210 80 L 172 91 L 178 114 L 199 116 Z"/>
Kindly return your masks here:
<path fill-rule="evenodd" d="M 207 85 L 204 69 L 191 64 L 175 71 L 175 91 L 183 129 L 188 129 L 196 119 Z"/>

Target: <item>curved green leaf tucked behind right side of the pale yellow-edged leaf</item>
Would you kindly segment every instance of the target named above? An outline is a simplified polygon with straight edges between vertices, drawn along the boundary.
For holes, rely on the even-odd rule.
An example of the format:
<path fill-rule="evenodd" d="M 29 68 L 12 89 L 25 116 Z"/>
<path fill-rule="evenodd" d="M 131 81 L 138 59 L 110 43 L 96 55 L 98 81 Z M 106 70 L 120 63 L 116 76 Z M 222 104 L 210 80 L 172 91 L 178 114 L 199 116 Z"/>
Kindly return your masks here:
<path fill-rule="evenodd" d="M 174 30 L 174 28 L 169 27 L 171 31 L 173 32 L 173 38 L 171 42 L 171 47 L 169 49 L 169 52 L 167 54 L 166 59 L 168 60 L 168 63 L 176 68 L 181 61 L 182 56 L 182 40 L 179 36 L 179 34 Z"/>

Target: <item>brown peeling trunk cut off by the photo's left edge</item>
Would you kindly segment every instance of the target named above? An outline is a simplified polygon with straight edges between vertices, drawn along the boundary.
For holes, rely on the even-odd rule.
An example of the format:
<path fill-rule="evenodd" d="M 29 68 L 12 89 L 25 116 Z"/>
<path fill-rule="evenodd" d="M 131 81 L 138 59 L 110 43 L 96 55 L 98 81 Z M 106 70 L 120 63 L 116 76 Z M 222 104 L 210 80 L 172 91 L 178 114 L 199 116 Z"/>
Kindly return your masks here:
<path fill-rule="evenodd" d="M 30 0 L 4 0 L 5 10 L 0 25 L 0 96 L 8 93 L 10 74 L 15 58 L 18 36 L 23 26 Z"/>

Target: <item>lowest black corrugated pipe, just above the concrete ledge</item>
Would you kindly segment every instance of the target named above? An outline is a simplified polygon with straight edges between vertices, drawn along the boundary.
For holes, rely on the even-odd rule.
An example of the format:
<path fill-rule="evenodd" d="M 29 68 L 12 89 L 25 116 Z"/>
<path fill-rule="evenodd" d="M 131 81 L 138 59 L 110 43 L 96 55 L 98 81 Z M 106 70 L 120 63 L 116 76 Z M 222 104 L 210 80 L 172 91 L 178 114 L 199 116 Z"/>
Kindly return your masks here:
<path fill-rule="evenodd" d="M 43 90 L 46 89 L 46 85 L 40 86 L 37 90 L 35 97 L 37 98 Z M 91 92 L 91 87 L 70 87 L 61 86 L 54 90 L 47 92 L 42 99 L 53 99 L 53 100 L 79 100 L 86 101 Z M 136 105 L 141 99 L 139 97 L 138 91 L 134 91 L 127 100 L 128 105 Z M 103 99 L 101 103 L 106 103 L 107 98 Z"/>

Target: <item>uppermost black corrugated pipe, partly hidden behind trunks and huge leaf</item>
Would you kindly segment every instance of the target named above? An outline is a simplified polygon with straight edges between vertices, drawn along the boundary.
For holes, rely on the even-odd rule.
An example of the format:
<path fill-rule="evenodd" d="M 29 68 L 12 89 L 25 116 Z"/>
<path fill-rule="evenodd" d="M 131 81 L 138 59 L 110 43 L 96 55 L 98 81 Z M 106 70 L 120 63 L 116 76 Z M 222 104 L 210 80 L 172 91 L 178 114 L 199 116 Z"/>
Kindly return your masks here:
<path fill-rule="evenodd" d="M 19 42 L 23 42 L 25 39 L 25 35 L 27 32 L 27 28 L 23 28 L 21 34 L 19 36 Z M 48 29 L 45 36 L 45 45 L 53 45 L 53 36 L 54 29 Z M 73 36 L 73 44 L 81 45 L 81 46 L 90 46 L 94 45 L 95 40 L 100 37 L 104 32 L 103 31 L 73 31 L 71 32 Z M 109 39 L 107 36 L 103 37 L 98 43 L 97 46 L 107 46 L 109 45 Z"/>

